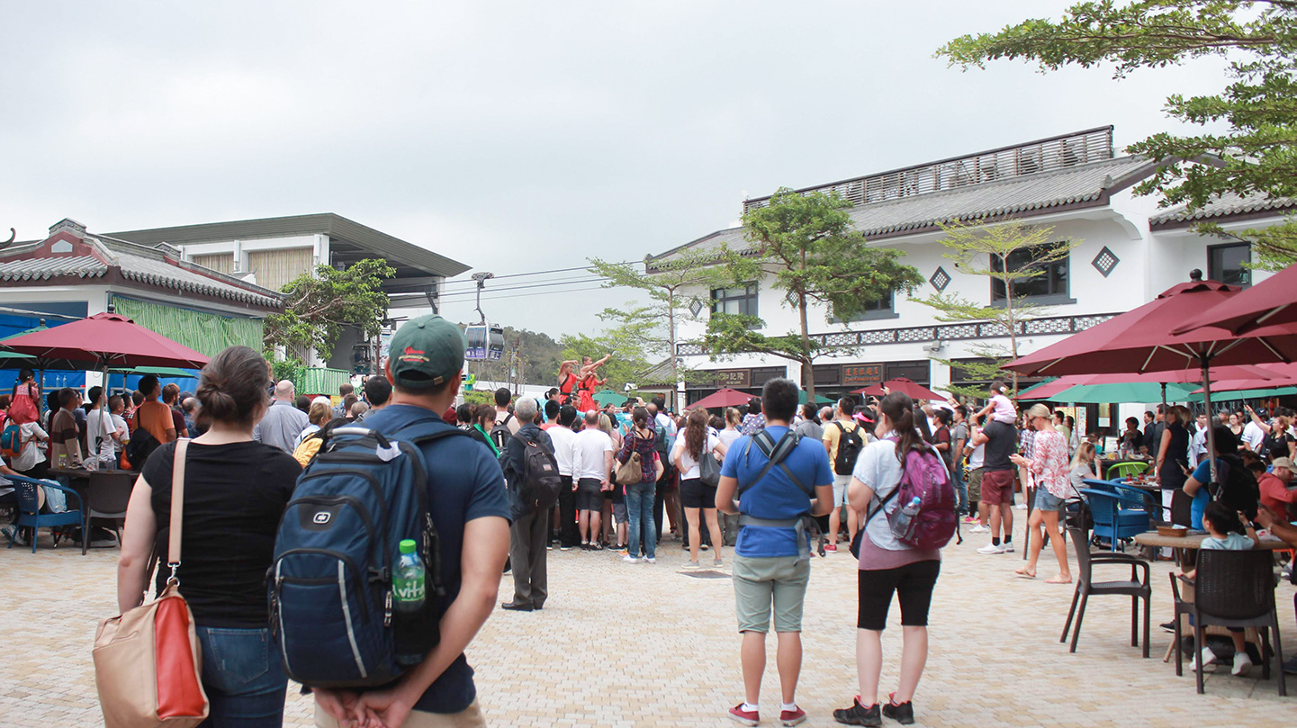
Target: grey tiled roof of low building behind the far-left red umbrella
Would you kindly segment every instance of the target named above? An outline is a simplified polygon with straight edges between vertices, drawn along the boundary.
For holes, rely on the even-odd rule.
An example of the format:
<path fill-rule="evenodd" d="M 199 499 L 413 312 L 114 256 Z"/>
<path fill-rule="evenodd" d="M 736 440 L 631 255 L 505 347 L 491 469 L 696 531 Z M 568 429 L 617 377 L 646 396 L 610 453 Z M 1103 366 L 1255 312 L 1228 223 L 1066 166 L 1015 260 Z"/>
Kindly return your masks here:
<path fill-rule="evenodd" d="M 0 280 L 48 280 L 58 276 L 101 278 L 110 269 L 119 269 L 122 278 L 202 293 L 218 298 L 243 301 L 267 309 L 281 309 L 283 295 L 214 270 L 169 258 L 163 250 L 125 240 L 84 235 L 82 241 L 92 248 L 89 256 L 42 256 L 44 241 L 9 248 L 0 261 Z M 105 262 L 106 261 L 106 262 Z"/>

